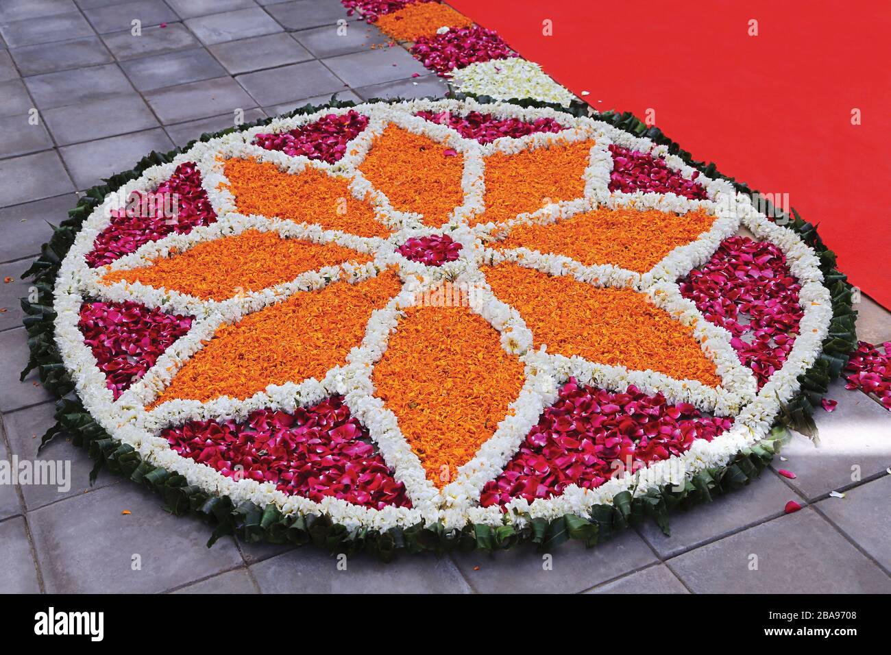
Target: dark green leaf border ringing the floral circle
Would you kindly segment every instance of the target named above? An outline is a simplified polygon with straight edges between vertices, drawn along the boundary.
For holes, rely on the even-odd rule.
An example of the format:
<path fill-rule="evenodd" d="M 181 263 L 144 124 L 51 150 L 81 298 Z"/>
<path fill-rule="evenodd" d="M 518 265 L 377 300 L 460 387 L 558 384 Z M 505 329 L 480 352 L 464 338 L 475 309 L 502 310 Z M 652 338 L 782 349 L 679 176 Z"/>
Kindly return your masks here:
<path fill-rule="evenodd" d="M 488 96 L 458 94 L 456 97 L 472 97 L 482 103 L 499 102 Z M 393 103 L 404 100 L 403 98 L 373 99 L 369 102 Z M 521 107 L 548 107 L 573 116 L 591 116 L 631 134 L 646 136 L 655 143 L 666 144 L 669 152 L 681 157 L 692 168 L 700 170 L 707 176 L 722 177 L 731 182 L 739 192 L 746 193 L 751 198 L 757 197 L 757 192 L 751 190 L 747 184 L 723 176 L 717 171 L 715 164 L 693 160 L 689 152 L 683 151 L 661 130 L 657 127 L 647 127 L 631 113 L 610 111 L 599 114 L 591 111 L 588 105 L 582 102 L 573 102 L 569 107 L 531 99 L 508 102 Z M 340 102 L 336 95 L 332 95 L 328 104 L 317 106 L 307 104 L 283 116 L 294 117 L 326 107 L 351 107 L 355 104 L 355 102 Z M 74 209 L 69 210 L 69 217 L 61 225 L 53 226 L 52 238 L 42 246 L 40 256 L 24 274 L 25 277 L 34 278 L 37 301 L 21 300 L 21 307 L 25 312 L 23 323 L 28 332 L 30 349 L 29 363 L 22 371 L 21 379 L 24 380 L 30 371 L 37 369 L 44 387 L 58 397 L 56 423 L 46 432 L 41 448 L 56 434 L 69 434 L 71 442 L 86 448 L 96 463 L 90 474 L 91 482 L 104 466 L 113 473 L 142 483 L 163 497 L 168 512 L 177 515 L 192 514 L 208 521 L 214 527 L 208 540 L 208 547 L 220 536 L 238 534 L 248 542 L 268 541 L 275 544 L 296 545 L 312 543 L 333 553 L 373 553 L 381 560 L 390 561 L 399 551 L 407 553 L 427 551 L 437 554 L 454 550 L 496 551 L 522 542 L 531 542 L 545 551 L 569 539 L 578 539 L 590 547 L 608 538 L 617 530 L 629 524 L 641 523 L 648 518 L 655 520 L 667 535 L 669 511 L 709 502 L 715 495 L 748 485 L 761 471 L 764 471 L 771 462 L 773 454 L 779 451 L 779 439 L 765 438 L 736 454 L 726 465 L 699 471 L 692 479 L 686 481 L 683 488 L 653 488 L 647 494 L 637 497 L 633 497 L 629 491 L 623 491 L 613 499 L 613 504 L 595 505 L 590 514 L 584 517 L 566 514 L 549 521 L 527 516 L 524 517 L 527 520 L 523 528 L 512 525 L 493 527 L 475 524 L 449 530 L 437 523 L 380 531 L 370 528 L 347 528 L 334 523 L 327 516 L 316 514 L 283 516 L 274 505 L 266 507 L 252 503 L 235 505 L 227 496 L 210 495 L 200 487 L 189 485 L 182 475 L 144 462 L 132 446 L 116 442 L 94 421 L 78 398 L 69 373 L 62 364 L 53 340 L 56 317 L 53 312 L 53 283 L 61 261 L 74 243 L 75 235 L 86 218 L 110 192 L 117 191 L 123 184 L 141 176 L 146 168 L 168 163 L 197 141 L 206 142 L 236 130 L 267 125 L 271 120 L 271 118 L 258 119 L 237 128 L 230 127 L 217 133 L 203 134 L 199 139 L 187 143 L 184 148 L 176 148 L 165 153 L 152 151 L 134 168 L 111 176 L 104 180 L 105 184 L 94 186 L 78 201 Z M 832 296 L 833 318 L 830 323 L 830 335 L 823 342 L 823 353 L 809 371 L 799 376 L 801 392 L 788 405 L 792 421 L 805 421 L 820 404 L 823 394 L 829 389 L 830 381 L 841 373 L 847 363 L 848 353 L 856 345 L 854 333 L 856 312 L 851 303 L 851 286 L 846 282 L 846 276 L 835 268 L 835 254 L 823 244 L 816 227 L 799 217 L 795 209 L 792 209 L 792 217 L 789 217 L 787 226 L 797 232 L 818 254 L 821 270 Z"/>

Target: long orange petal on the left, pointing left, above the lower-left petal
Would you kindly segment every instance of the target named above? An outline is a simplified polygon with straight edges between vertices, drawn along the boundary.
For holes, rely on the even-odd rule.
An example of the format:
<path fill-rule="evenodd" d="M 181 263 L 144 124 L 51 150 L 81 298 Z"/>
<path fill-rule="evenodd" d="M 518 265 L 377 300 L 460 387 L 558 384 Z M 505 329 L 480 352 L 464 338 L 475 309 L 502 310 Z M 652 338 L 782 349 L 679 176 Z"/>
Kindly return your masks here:
<path fill-rule="evenodd" d="M 346 261 L 364 264 L 372 258 L 335 243 L 283 239 L 277 233 L 248 230 L 156 259 L 151 266 L 113 271 L 102 282 L 142 282 L 200 299 L 225 300 Z"/>

